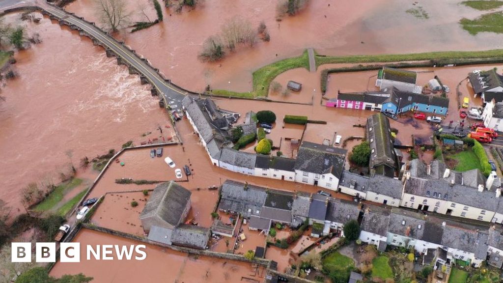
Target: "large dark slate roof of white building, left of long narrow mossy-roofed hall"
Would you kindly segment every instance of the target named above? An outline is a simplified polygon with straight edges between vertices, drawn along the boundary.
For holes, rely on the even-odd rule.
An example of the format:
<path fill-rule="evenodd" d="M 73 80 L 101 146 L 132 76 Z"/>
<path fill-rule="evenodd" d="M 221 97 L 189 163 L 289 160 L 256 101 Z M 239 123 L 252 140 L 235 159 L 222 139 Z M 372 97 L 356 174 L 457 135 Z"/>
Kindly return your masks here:
<path fill-rule="evenodd" d="M 295 170 L 315 174 L 331 173 L 341 178 L 347 150 L 302 142 L 295 160 Z"/>

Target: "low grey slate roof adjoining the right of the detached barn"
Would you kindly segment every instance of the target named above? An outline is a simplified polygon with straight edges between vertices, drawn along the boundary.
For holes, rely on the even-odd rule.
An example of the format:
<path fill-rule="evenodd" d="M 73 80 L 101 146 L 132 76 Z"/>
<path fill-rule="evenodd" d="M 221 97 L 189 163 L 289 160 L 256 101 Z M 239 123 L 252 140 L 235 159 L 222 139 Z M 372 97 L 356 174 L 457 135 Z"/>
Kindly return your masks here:
<path fill-rule="evenodd" d="M 209 228 L 182 224 L 173 231 L 171 241 L 177 246 L 205 249 L 210 233 Z"/>

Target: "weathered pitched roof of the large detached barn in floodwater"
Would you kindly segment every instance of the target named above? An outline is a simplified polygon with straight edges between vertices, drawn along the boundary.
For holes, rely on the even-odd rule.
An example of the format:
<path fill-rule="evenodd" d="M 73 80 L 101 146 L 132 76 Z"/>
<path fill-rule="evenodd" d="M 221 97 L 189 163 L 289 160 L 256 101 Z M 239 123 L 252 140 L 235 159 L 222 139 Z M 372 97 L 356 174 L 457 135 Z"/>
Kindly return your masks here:
<path fill-rule="evenodd" d="M 145 207 L 141 211 L 140 219 L 157 217 L 173 226 L 184 220 L 187 202 L 190 201 L 191 192 L 174 181 L 157 185 L 150 194 Z"/>

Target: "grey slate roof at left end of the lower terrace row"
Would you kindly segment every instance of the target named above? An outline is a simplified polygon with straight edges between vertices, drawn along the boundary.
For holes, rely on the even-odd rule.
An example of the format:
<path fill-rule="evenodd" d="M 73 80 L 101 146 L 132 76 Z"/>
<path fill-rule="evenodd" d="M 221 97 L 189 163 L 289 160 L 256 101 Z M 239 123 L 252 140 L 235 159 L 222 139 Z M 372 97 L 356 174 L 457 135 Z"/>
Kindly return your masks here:
<path fill-rule="evenodd" d="M 248 185 L 245 190 L 244 186 L 244 183 L 226 180 L 222 184 L 218 208 L 241 213 L 246 218 L 249 218 L 251 215 L 257 215 L 257 210 L 259 210 L 260 213 L 266 201 L 266 189 Z"/>

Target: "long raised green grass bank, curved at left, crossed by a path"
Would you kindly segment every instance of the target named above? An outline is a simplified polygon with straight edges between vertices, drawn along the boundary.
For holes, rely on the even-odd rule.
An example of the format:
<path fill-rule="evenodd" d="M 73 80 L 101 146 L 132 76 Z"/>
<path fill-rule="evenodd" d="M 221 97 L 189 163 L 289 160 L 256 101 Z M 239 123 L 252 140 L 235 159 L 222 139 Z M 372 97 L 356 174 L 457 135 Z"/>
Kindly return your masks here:
<path fill-rule="evenodd" d="M 316 66 L 333 63 L 386 63 L 386 62 L 406 62 L 425 61 L 435 59 L 442 60 L 462 60 L 462 59 L 485 59 L 503 57 L 503 49 L 486 51 L 446 51 L 446 52 L 425 52 L 412 54 L 382 54 L 382 55 L 353 55 L 353 56 L 323 56 L 316 54 Z M 229 90 L 213 90 L 213 95 L 238 98 L 267 97 L 271 82 L 281 73 L 294 68 L 309 69 L 309 58 L 307 51 L 298 57 L 288 58 L 261 67 L 253 73 L 253 90 L 250 92 L 233 92 Z"/>

